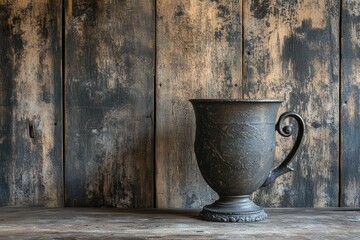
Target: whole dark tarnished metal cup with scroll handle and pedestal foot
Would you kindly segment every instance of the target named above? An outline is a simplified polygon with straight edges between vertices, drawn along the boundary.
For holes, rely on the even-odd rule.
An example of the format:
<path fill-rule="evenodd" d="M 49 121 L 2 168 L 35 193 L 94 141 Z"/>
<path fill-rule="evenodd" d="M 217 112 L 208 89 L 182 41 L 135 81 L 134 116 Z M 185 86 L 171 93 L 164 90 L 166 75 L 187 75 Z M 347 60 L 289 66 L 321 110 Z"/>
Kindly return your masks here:
<path fill-rule="evenodd" d="M 211 221 L 253 222 L 266 213 L 249 196 L 280 175 L 300 146 L 304 122 L 292 112 L 284 113 L 276 124 L 281 100 L 192 99 L 196 116 L 195 154 L 202 176 L 218 193 L 219 200 L 205 206 L 201 216 Z M 286 118 L 298 123 L 298 137 L 284 162 L 271 171 L 275 157 L 275 130 L 292 134 L 283 127 Z M 276 126 L 276 127 L 275 127 Z"/>

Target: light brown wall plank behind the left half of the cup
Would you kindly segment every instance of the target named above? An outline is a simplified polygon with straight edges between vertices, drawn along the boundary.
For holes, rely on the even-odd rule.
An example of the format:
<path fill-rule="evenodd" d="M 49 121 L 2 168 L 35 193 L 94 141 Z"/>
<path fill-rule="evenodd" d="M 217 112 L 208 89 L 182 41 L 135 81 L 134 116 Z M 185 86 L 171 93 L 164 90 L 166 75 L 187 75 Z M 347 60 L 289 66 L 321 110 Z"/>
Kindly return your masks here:
<path fill-rule="evenodd" d="M 196 163 L 188 99 L 241 97 L 241 6 L 241 0 L 157 1 L 157 207 L 200 207 L 217 198 Z"/>

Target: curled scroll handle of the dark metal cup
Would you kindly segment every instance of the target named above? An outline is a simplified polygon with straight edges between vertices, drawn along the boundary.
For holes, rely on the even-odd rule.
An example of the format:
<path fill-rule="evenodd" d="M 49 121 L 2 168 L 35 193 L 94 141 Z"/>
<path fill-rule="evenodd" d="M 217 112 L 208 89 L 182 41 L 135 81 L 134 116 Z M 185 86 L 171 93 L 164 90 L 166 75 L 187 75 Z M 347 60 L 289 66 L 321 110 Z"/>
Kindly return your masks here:
<path fill-rule="evenodd" d="M 275 179 L 278 178 L 279 176 L 281 176 L 287 172 L 294 171 L 294 169 L 289 166 L 289 163 L 296 155 L 296 152 L 302 142 L 302 139 L 304 137 L 304 131 L 305 131 L 305 123 L 304 123 L 304 120 L 302 119 L 302 117 L 295 112 L 285 112 L 285 113 L 281 114 L 281 116 L 276 124 L 276 131 L 278 131 L 279 134 L 283 137 L 290 137 L 293 133 L 291 125 L 283 126 L 285 119 L 287 119 L 289 117 L 294 118 L 298 124 L 298 133 L 297 133 L 295 144 L 294 144 L 293 148 L 291 149 L 289 155 L 287 155 L 287 157 L 285 158 L 285 160 L 276 169 L 272 170 L 269 173 L 268 178 L 266 179 L 265 183 L 261 187 L 266 187 L 266 186 L 270 185 L 271 183 L 273 183 L 275 181 Z"/>

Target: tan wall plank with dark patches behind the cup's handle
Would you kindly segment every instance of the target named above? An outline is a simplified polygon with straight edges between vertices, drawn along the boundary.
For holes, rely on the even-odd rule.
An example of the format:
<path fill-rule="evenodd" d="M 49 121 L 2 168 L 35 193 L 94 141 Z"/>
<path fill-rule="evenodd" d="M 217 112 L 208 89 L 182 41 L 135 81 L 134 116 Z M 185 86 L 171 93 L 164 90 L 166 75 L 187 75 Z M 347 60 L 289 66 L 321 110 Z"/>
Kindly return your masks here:
<path fill-rule="evenodd" d="M 255 194 L 264 206 L 338 205 L 339 9 L 335 0 L 244 0 L 244 96 L 282 98 L 281 111 L 307 124 L 295 172 Z M 292 143 L 279 137 L 277 164 Z"/>

